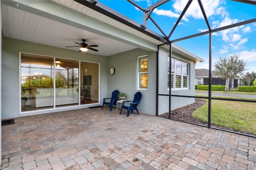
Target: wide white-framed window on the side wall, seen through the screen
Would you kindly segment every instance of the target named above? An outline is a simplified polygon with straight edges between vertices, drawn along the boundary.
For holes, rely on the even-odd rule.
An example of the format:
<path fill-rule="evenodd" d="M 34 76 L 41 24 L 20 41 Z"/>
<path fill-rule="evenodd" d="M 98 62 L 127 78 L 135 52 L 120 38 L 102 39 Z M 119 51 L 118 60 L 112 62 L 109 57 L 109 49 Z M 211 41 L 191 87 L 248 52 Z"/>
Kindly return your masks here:
<path fill-rule="evenodd" d="M 170 57 L 168 57 L 168 89 L 188 89 L 188 63 L 172 58 L 170 75 Z M 170 82 L 171 77 L 171 84 Z M 170 86 L 169 86 L 170 85 Z"/>

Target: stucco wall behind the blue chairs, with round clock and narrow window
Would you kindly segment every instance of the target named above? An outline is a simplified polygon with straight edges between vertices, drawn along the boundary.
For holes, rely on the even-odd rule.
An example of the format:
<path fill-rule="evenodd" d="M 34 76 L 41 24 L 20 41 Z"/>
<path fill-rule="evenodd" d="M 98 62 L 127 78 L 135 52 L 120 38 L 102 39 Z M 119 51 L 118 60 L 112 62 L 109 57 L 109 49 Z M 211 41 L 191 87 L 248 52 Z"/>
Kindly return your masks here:
<path fill-rule="evenodd" d="M 137 89 L 137 57 L 142 55 L 148 55 L 148 90 Z M 109 73 L 111 67 L 115 68 L 114 75 Z M 114 90 L 125 91 L 128 94 L 126 100 L 133 100 L 134 94 L 140 91 L 142 99 L 138 111 L 156 115 L 156 52 L 137 48 L 108 57 L 109 97 Z"/>

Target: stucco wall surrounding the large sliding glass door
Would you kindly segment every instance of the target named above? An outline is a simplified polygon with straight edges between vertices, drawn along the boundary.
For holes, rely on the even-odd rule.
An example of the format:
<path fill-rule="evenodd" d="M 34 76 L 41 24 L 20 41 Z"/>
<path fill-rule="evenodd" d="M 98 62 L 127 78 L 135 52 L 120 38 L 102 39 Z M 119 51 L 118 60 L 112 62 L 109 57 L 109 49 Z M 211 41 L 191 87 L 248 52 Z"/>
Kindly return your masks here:
<path fill-rule="evenodd" d="M 19 52 L 100 63 L 100 103 L 102 103 L 104 97 L 107 97 L 107 73 L 109 73 L 107 57 L 24 42 L 10 38 L 2 38 L 2 119 L 88 107 L 77 106 L 64 109 L 57 108 L 56 110 L 40 110 L 29 114 L 20 115 Z"/>

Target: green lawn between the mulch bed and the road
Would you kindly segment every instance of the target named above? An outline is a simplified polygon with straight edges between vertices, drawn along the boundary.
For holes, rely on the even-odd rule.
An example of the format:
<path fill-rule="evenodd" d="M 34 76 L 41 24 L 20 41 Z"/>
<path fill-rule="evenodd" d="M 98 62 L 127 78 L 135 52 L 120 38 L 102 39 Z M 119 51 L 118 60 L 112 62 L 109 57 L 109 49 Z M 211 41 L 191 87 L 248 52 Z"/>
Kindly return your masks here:
<path fill-rule="evenodd" d="M 212 100 L 211 123 L 256 135 L 255 108 L 256 103 Z M 197 120 L 208 122 L 208 102 L 196 109 L 193 116 Z"/>

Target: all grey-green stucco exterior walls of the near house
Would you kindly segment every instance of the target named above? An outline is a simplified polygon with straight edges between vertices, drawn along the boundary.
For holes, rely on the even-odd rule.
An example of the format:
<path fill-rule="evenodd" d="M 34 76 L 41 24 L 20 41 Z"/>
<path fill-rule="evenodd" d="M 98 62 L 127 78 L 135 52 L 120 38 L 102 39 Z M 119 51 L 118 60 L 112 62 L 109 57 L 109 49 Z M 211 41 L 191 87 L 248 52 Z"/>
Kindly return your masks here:
<path fill-rule="evenodd" d="M 15 44 L 15 45 L 13 45 Z M 100 63 L 100 105 L 103 98 L 110 97 L 112 91 L 125 91 L 128 94 L 127 100 L 133 100 L 137 91 L 142 93 L 142 100 L 138 109 L 142 113 L 156 115 L 156 55 L 157 52 L 150 52 L 144 49 L 134 49 L 119 53 L 109 57 L 81 53 L 78 51 L 39 45 L 35 43 L 3 38 L 2 44 L 2 119 L 10 119 L 19 116 L 34 115 L 41 113 L 51 113 L 55 111 L 79 109 L 88 106 L 76 106 L 57 108 L 55 110 L 40 110 L 32 113 L 20 114 L 20 57 L 19 52 L 34 53 L 68 59 L 77 59 Z M 167 88 L 167 68 L 168 68 L 167 49 L 160 47 L 159 52 L 159 94 L 169 94 Z M 138 90 L 138 63 L 137 57 L 148 55 L 148 89 Z M 172 57 L 189 63 L 189 89 L 172 90 L 174 95 L 194 96 L 195 85 L 195 62 L 177 53 L 172 53 Z M 114 75 L 109 69 L 115 68 Z M 172 97 L 171 109 L 176 109 L 194 102 L 193 98 Z M 99 105 L 99 104 L 98 104 Z M 120 107 L 120 106 L 119 106 Z M 169 98 L 159 97 L 159 115 L 168 112 Z"/>

